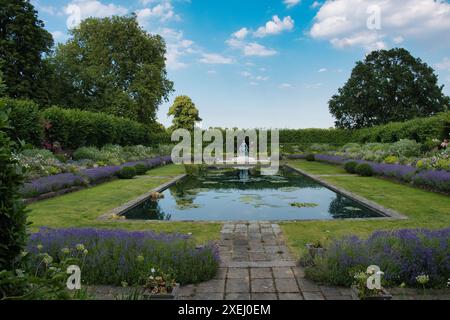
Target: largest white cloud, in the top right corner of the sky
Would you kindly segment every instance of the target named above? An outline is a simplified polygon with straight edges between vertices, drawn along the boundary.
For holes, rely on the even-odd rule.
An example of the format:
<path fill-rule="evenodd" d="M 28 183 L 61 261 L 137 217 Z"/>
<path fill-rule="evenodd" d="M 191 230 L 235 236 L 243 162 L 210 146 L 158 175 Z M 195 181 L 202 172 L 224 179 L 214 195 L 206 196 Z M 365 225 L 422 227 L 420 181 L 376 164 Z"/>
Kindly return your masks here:
<path fill-rule="evenodd" d="M 368 8 L 381 9 L 381 29 L 369 30 Z M 450 3 L 435 0 L 327 0 L 314 18 L 310 35 L 335 47 L 389 47 L 404 40 L 439 39 L 450 43 Z M 398 36 L 401 34 L 401 37 Z"/>

